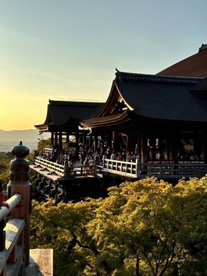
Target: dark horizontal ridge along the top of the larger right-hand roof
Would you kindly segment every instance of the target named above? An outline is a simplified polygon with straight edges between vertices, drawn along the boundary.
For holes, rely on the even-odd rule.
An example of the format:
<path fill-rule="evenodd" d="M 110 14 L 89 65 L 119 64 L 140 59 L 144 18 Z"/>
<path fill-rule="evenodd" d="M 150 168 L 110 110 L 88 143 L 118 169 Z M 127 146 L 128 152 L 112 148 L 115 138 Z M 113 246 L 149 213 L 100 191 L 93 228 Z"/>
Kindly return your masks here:
<path fill-rule="evenodd" d="M 149 75 L 130 72 L 116 72 L 116 78 L 119 81 L 150 81 L 167 83 L 199 83 L 204 77 L 177 77 L 167 75 Z"/>

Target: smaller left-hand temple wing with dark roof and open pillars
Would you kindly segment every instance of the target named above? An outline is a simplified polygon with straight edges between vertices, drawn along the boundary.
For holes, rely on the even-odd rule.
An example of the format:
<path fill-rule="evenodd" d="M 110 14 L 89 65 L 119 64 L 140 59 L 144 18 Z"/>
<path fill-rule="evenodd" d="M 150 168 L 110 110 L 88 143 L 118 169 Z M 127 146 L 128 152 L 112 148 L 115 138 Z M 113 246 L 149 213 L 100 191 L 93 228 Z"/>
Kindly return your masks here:
<path fill-rule="evenodd" d="M 78 151 L 79 143 L 86 143 L 89 132 L 80 127 L 80 121 L 94 116 L 101 106 L 103 103 L 99 102 L 49 100 L 46 119 L 35 128 L 40 133 L 51 132 L 51 144 L 59 150 Z"/>

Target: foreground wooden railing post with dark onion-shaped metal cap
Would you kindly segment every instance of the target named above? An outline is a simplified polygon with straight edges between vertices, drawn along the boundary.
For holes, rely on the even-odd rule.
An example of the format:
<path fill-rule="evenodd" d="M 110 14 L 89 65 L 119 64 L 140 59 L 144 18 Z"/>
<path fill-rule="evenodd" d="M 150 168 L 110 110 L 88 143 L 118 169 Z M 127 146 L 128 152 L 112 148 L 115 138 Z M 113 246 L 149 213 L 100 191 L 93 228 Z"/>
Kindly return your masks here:
<path fill-rule="evenodd" d="M 25 253 L 25 265 L 30 262 L 30 212 L 31 212 L 31 184 L 29 181 L 30 165 L 26 157 L 30 150 L 22 145 L 12 148 L 12 155 L 16 156 L 10 165 L 10 181 L 8 183 L 8 198 L 12 195 L 20 194 L 21 201 L 12 210 L 11 219 L 25 219 L 25 227 L 23 230 L 23 244 Z"/>

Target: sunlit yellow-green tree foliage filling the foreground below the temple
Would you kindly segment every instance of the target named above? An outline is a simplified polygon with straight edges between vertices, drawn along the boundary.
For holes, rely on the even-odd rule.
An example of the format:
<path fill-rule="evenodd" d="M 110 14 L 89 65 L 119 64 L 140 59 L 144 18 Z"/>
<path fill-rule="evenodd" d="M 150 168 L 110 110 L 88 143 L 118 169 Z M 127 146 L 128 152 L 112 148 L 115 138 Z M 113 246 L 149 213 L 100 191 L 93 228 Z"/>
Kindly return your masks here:
<path fill-rule="evenodd" d="M 207 177 L 155 178 L 106 199 L 33 201 L 33 248 L 54 248 L 55 275 L 206 275 Z"/>

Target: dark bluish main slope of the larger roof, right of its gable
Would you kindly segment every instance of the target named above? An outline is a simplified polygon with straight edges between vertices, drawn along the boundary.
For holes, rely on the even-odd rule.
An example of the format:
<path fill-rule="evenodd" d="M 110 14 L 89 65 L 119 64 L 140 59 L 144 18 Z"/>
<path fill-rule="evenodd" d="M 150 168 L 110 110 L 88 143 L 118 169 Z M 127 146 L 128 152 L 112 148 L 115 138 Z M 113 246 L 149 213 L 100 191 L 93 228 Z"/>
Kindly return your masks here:
<path fill-rule="evenodd" d="M 132 113 L 154 119 L 207 122 L 206 101 L 190 92 L 204 78 L 126 72 L 117 72 L 116 75 L 119 93 L 133 108 Z"/>

